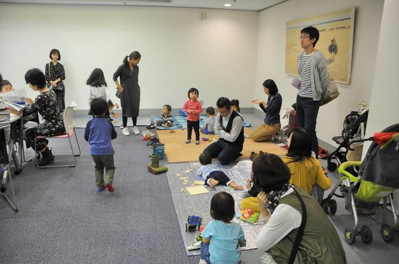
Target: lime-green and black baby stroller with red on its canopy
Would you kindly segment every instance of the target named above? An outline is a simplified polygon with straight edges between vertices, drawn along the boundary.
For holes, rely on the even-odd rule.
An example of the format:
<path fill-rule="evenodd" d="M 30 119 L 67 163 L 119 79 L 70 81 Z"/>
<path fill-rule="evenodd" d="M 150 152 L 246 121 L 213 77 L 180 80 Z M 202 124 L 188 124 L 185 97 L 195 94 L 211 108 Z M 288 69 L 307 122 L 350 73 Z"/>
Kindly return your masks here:
<path fill-rule="evenodd" d="M 337 203 L 331 199 L 333 195 L 345 198 L 345 208 L 353 213 L 354 227 L 345 227 L 345 241 L 352 245 L 356 236 L 361 236 L 366 244 L 372 241 L 371 229 L 364 225 L 358 230 L 358 215 L 373 215 L 375 210 L 372 208 L 381 207 L 386 213 L 386 207 L 390 206 L 393 214 L 393 227 L 383 224 L 381 236 L 385 242 L 391 242 L 395 234 L 399 233 L 398 220 L 393 204 L 392 193 L 399 188 L 399 124 L 386 128 L 381 133 L 375 133 L 373 137 L 367 139 L 353 140 L 348 145 L 356 142 L 372 140 L 366 157 L 362 161 L 347 161 L 338 168 L 340 180 L 333 191 L 322 201 L 322 207 L 327 213 L 331 214 L 337 210 Z M 359 172 L 350 172 L 352 166 L 359 166 Z M 342 196 L 335 194 L 335 190 L 340 187 Z M 380 201 L 383 200 L 381 204 Z M 387 203 L 388 201 L 388 203 Z"/>

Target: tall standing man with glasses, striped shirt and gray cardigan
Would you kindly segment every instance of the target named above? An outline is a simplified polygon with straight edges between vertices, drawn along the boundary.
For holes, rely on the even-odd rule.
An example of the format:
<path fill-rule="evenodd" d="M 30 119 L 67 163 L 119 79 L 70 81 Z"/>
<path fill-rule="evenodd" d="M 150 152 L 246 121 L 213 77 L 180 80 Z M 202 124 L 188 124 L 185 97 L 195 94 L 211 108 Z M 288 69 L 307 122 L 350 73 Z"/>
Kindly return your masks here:
<path fill-rule="evenodd" d="M 316 135 L 316 119 L 327 89 L 327 60 L 321 52 L 315 49 L 319 40 L 319 31 L 316 28 L 302 29 L 300 39 L 304 51 L 298 55 L 298 73 L 301 76 L 301 83 L 297 95 L 297 126 L 311 132 L 312 151 L 318 158 L 319 142 Z"/>

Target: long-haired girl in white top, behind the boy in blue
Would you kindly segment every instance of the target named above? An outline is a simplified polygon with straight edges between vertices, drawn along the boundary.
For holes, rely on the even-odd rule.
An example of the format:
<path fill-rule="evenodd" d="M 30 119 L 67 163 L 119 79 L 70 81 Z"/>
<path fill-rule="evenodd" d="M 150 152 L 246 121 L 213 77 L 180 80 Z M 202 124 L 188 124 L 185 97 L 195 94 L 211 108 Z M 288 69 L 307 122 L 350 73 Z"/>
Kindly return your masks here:
<path fill-rule="evenodd" d="M 95 68 L 92 71 L 92 74 L 90 75 L 90 77 L 88 77 L 86 84 L 90 86 L 89 99 L 102 98 L 105 100 L 105 103 L 108 100 L 111 100 L 112 104 L 116 108 L 119 108 L 119 105 L 118 105 L 116 99 L 109 92 L 107 83 L 105 82 L 104 73 L 103 73 L 102 69 Z M 89 112 L 89 114 L 91 114 L 91 113 Z M 109 116 L 108 107 L 107 107 L 106 116 Z"/>

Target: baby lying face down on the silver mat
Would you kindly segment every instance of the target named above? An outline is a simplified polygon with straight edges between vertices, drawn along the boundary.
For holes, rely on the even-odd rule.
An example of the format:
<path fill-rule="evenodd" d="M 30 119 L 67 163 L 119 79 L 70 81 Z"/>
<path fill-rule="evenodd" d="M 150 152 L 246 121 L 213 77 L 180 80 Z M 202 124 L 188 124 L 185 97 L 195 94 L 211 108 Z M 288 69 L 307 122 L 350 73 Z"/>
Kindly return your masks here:
<path fill-rule="evenodd" d="M 201 167 L 197 171 L 197 176 L 202 176 L 205 179 L 205 184 L 213 187 L 217 184 L 229 185 L 237 190 L 243 190 L 241 185 L 236 184 L 230 180 L 229 177 L 222 171 L 218 171 L 216 166 L 212 164 L 212 157 L 208 153 L 200 155 Z"/>

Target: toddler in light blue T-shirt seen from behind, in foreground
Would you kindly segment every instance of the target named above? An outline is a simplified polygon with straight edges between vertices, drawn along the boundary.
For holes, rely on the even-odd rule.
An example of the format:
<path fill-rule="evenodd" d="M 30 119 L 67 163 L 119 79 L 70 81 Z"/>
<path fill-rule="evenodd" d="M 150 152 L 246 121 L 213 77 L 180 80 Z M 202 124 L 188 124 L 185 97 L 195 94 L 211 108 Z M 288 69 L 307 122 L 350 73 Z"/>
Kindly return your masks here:
<path fill-rule="evenodd" d="M 211 199 L 213 220 L 202 230 L 201 260 L 204 263 L 240 263 L 241 247 L 246 245 L 245 234 L 234 218 L 234 199 L 222 191 Z"/>

